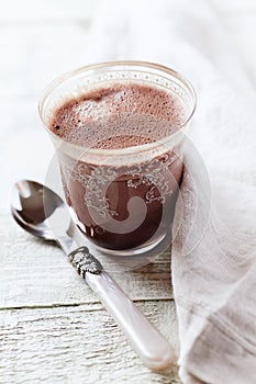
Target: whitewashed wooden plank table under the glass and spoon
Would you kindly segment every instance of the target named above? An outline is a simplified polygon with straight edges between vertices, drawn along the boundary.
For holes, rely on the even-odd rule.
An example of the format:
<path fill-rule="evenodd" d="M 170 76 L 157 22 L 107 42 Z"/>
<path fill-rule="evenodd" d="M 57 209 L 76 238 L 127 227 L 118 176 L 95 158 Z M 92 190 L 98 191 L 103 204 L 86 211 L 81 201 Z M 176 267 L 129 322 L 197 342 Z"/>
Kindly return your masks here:
<path fill-rule="evenodd" d="M 145 368 L 63 252 L 22 231 L 9 214 L 20 178 L 44 181 L 53 148 L 36 103 L 54 77 L 85 65 L 98 1 L 12 0 L 0 13 L 0 383 L 179 383 L 177 366 Z M 212 0 L 256 83 L 256 7 Z M 81 49 L 82 47 L 82 49 Z M 254 55 L 253 55 L 254 53 Z M 170 255 L 111 274 L 178 353 Z"/>

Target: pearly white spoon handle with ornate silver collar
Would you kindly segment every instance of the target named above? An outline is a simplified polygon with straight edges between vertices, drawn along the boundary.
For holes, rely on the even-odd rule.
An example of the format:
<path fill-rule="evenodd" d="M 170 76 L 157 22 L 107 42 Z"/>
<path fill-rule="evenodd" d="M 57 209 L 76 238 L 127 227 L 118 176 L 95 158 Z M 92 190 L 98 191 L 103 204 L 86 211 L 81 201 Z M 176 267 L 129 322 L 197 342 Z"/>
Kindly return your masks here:
<path fill-rule="evenodd" d="M 162 370 L 174 362 L 175 353 L 169 342 L 103 270 L 88 248 L 80 247 L 68 257 L 119 324 L 145 365 L 153 370 Z"/>

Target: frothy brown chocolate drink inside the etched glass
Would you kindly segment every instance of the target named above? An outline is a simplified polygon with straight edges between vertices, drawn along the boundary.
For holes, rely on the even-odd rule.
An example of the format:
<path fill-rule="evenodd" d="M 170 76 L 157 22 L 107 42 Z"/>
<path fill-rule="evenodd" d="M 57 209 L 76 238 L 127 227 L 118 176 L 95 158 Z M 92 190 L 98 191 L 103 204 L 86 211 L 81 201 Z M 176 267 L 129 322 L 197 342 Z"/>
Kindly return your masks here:
<path fill-rule="evenodd" d="M 76 222 L 97 246 L 132 249 L 170 234 L 181 146 L 158 142 L 185 118 L 178 97 L 135 82 L 81 92 L 54 111 L 51 131 L 85 148 L 78 160 L 62 154 L 62 176 Z"/>

